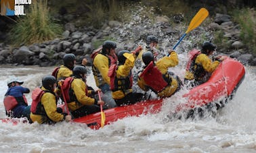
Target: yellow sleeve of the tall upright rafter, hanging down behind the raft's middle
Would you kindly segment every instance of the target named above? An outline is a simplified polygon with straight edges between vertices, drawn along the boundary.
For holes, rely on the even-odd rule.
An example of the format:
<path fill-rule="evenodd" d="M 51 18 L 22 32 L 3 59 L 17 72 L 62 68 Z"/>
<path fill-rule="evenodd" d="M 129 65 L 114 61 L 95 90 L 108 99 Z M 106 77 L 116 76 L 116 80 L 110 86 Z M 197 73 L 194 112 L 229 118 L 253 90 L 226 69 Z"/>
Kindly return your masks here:
<path fill-rule="evenodd" d="M 104 82 L 108 85 L 110 84 L 110 78 L 108 77 L 108 57 L 98 54 L 95 59 L 93 60 L 93 64 L 97 67 L 102 74 L 102 78 Z"/>

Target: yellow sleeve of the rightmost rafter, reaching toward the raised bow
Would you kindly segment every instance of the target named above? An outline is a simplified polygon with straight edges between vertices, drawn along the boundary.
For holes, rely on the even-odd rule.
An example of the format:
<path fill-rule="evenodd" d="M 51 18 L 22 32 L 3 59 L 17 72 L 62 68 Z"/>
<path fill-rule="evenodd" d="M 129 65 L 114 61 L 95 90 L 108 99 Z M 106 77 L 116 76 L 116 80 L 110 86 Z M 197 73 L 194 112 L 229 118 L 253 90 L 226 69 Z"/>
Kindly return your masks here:
<path fill-rule="evenodd" d="M 216 67 L 219 65 L 219 61 L 212 62 L 211 59 L 205 54 L 198 55 L 195 62 L 201 63 L 205 71 L 209 73 L 213 72 L 216 69 Z"/>

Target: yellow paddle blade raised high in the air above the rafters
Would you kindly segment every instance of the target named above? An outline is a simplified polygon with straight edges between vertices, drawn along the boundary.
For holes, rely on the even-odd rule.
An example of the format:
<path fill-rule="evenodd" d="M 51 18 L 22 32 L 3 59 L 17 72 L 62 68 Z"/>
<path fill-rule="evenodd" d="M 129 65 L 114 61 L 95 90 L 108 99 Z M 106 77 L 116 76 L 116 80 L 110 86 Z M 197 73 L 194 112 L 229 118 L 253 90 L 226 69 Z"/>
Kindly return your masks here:
<path fill-rule="evenodd" d="M 209 12 L 207 11 L 207 9 L 202 7 L 196 13 L 196 16 L 194 16 L 194 18 L 191 20 L 190 26 L 188 26 L 188 30 L 186 31 L 186 34 L 188 34 L 188 32 L 190 32 L 194 28 L 198 27 L 205 20 L 205 18 L 207 18 L 208 15 L 209 15 Z"/>

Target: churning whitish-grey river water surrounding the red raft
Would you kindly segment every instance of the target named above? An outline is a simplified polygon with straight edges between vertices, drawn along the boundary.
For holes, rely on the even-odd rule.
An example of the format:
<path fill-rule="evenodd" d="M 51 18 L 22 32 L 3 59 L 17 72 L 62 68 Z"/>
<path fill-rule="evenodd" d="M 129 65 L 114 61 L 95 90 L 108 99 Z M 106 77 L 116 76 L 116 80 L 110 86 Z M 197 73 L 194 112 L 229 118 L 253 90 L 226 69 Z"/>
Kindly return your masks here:
<path fill-rule="evenodd" d="M 41 86 L 54 67 L 0 66 L 0 100 L 7 79 L 18 76 L 23 86 Z M 0 122 L 0 152 L 256 152 L 256 69 L 246 67 L 234 98 L 215 117 L 167 121 L 170 104 L 157 115 L 127 117 L 97 131 L 79 123 Z M 95 87 L 92 73 L 87 84 Z M 165 101 L 182 102 L 180 94 Z M 27 94 L 28 102 L 31 95 Z M 0 102 L 0 118 L 5 118 Z"/>

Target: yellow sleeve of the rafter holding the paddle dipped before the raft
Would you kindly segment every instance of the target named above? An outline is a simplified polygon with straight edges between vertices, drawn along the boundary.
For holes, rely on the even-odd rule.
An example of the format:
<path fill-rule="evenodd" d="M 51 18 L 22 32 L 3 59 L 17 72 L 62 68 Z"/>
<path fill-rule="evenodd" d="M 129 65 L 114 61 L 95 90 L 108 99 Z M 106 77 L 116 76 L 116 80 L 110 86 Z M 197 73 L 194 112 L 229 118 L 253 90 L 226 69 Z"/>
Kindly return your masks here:
<path fill-rule="evenodd" d="M 71 83 L 71 88 L 74 91 L 77 100 L 83 105 L 91 105 L 94 104 L 94 98 L 91 98 L 85 94 L 85 82 L 81 79 L 74 79 Z"/>

